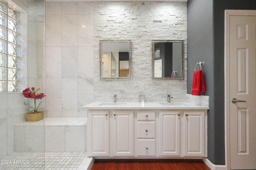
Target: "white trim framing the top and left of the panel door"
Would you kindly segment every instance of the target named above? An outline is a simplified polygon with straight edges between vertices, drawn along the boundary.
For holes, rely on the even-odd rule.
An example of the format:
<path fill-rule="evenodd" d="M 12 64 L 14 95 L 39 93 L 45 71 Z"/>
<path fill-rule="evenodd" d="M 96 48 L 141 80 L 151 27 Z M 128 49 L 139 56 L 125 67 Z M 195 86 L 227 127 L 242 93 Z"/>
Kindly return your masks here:
<path fill-rule="evenodd" d="M 230 124 L 229 124 L 229 17 L 230 16 L 256 16 L 256 10 L 225 10 L 224 34 L 224 81 L 225 81 L 225 164 L 230 170 Z"/>

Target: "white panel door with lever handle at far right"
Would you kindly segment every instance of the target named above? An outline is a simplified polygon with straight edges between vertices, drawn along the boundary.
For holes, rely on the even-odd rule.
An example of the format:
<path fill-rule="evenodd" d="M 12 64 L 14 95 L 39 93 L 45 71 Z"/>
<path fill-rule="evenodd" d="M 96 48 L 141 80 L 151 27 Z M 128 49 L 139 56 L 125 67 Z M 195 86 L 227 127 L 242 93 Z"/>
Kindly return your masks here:
<path fill-rule="evenodd" d="M 228 35 L 230 169 L 256 169 L 256 16 L 229 16 Z"/>

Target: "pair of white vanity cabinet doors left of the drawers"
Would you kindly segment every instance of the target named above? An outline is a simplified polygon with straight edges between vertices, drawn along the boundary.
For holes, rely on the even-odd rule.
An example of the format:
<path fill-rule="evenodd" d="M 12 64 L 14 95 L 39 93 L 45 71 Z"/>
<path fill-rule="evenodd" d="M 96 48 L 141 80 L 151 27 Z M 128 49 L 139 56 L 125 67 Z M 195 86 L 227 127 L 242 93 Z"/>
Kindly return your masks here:
<path fill-rule="evenodd" d="M 88 156 L 134 155 L 134 111 L 88 111 Z"/>

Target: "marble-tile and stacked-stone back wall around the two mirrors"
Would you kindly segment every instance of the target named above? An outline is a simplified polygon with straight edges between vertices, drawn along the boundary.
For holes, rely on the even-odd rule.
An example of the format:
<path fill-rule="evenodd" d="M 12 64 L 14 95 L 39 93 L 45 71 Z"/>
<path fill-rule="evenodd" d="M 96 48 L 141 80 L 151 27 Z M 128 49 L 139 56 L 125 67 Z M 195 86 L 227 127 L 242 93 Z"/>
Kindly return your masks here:
<path fill-rule="evenodd" d="M 186 11 L 186 2 L 46 2 L 46 116 L 86 117 L 82 106 L 113 94 L 185 100 Z M 99 40 L 111 39 L 132 41 L 132 80 L 100 80 Z M 152 40 L 184 40 L 184 80 L 152 80 Z"/>

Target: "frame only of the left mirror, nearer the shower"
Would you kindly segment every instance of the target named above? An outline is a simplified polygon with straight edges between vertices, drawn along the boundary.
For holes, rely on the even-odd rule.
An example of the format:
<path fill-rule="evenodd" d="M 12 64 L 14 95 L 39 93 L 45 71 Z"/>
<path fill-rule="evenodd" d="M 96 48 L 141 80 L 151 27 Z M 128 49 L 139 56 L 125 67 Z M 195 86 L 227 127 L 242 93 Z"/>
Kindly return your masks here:
<path fill-rule="evenodd" d="M 102 77 L 102 43 L 129 43 L 129 77 Z M 132 79 L 132 43 L 131 40 L 100 40 L 100 80 L 127 80 Z"/>

